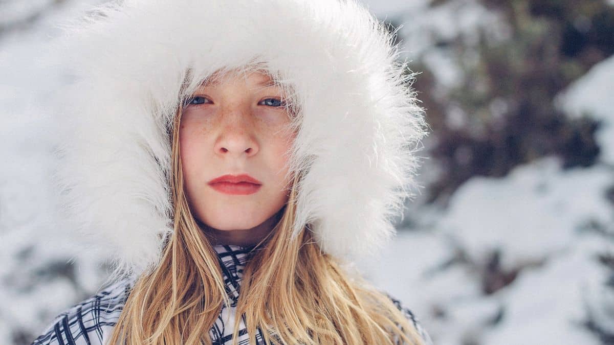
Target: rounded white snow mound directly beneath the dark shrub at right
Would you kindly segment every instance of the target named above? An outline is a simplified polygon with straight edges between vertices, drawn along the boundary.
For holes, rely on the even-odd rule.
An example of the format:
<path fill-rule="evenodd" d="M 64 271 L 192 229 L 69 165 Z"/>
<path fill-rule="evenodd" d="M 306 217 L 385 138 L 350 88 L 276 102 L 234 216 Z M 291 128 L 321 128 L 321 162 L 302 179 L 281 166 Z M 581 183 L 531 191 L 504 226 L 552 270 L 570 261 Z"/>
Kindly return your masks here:
<path fill-rule="evenodd" d="M 569 249 L 577 229 L 589 220 L 612 221 L 612 208 L 601 193 L 612 184 L 612 171 L 562 172 L 560 164 L 548 157 L 513 169 L 506 179 L 465 182 L 441 218 L 441 231 L 453 236 L 472 260 L 504 248 L 503 268 Z"/>

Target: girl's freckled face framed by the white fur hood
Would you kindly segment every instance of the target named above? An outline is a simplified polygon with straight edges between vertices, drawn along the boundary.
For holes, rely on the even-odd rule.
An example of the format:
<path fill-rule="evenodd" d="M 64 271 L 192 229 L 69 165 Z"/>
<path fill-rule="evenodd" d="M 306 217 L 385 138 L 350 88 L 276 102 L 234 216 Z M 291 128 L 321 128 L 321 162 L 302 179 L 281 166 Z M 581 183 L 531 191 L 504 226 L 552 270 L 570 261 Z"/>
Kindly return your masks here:
<path fill-rule="evenodd" d="M 294 133 L 281 88 L 266 74 L 229 73 L 205 83 L 184 106 L 179 128 L 184 188 L 196 220 L 222 244 L 265 236 L 288 201 L 287 157 Z M 258 184 L 222 182 L 247 174 Z"/>

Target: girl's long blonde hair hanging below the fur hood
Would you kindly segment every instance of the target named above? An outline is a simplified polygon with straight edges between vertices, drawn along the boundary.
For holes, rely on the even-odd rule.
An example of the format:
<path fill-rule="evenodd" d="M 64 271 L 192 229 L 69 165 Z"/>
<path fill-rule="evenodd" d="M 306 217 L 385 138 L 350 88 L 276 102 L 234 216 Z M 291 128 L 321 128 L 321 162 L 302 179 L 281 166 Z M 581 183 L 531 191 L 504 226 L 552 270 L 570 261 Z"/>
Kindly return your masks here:
<path fill-rule="evenodd" d="M 134 283 L 109 344 L 209 344 L 222 303 L 230 304 L 217 254 L 184 194 L 182 111 L 179 104 L 171 137 L 174 231 L 158 266 Z M 252 344 L 260 328 L 271 344 L 422 345 L 412 322 L 390 298 L 344 272 L 335 258 L 321 252 L 308 228 L 291 238 L 299 178 L 293 177 L 281 219 L 244 268 L 233 345 L 243 314 Z"/>

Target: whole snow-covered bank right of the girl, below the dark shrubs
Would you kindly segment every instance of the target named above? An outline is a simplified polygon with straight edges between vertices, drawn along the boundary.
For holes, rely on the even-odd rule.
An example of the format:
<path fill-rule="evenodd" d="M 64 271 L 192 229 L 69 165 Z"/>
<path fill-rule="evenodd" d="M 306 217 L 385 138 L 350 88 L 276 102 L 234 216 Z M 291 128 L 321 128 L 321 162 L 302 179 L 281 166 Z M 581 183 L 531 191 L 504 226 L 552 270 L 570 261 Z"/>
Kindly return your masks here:
<path fill-rule="evenodd" d="M 602 193 L 611 184 L 612 171 L 604 166 L 563 171 L 555 157 L 518 166 L 503 179 L 474 177 L 429 228 L 400 231 L 390 250 L 362 267 L 410 306 L 440 345 L 459 339 L 599 344 L 581 326 L 583 298 L 587 289 L 599 289 L 606 274 L 595 253 L 614 251 L 585 227 L 589 220 L 613 223 Z M 503 271 L 523 269 L 510 285 L 484 295 L 475 266 L 443 265 L 457 248 L 478 268 L 499 249 Z M 611 291 L 599 293 L 613 298 Z M 441 308 L 445 317 L 434 316 Z M 492 327 L 499 312 L 502 320 Z"/>

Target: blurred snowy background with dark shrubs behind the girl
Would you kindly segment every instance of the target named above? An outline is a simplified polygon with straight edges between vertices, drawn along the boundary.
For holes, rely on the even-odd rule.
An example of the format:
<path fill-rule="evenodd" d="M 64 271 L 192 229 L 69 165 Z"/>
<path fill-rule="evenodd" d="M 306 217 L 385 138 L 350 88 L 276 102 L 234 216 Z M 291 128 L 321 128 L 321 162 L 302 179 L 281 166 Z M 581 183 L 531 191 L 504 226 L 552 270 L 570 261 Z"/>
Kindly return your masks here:
<path fill-rule="evenodd" d="M 53 228 L 49 42 L 103 1 L 0 0 L 0 344 L 93 295 Z M 365 276 L 437 345 L 614 344 L 614 0 L 363 0 L 411 60 L 422 188 Z"/>

